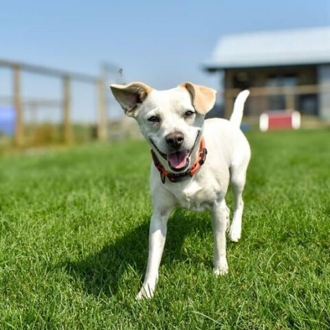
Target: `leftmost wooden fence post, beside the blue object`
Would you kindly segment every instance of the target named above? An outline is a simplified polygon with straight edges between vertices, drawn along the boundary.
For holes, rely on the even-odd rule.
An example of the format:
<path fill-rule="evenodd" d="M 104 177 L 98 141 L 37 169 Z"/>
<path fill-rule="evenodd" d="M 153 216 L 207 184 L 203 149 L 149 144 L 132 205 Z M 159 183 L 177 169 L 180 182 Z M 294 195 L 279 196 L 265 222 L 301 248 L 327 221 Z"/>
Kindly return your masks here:
<path fill-rule="evenodd" d="M 15 108 L 15 133 L 14 144 L 15 146 L 23 146 L 23 109 L 21 102 L 21 67 L 15 65 L 13 68 L 13 103 Z"/>

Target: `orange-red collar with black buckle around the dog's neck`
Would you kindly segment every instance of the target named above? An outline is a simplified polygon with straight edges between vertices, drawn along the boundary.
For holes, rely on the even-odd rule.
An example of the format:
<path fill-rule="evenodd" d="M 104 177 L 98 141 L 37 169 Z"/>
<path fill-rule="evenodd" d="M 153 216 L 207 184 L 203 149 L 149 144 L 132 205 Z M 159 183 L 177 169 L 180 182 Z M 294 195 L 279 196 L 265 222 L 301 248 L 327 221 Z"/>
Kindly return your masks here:
<path fill-rule="evenodd" d="M 199 170 L 199 168 L 204 164 L 207 153 L 208 151 L 205 147 L 205 141 L 203 137 L 201 137 L 201 144 L 199 144 L 199 155 L 197 157 L 197 161 L 195 162 L 195 164 L 193 164 L 192 167 L 186 170 L 186 172 L 184 173 L 170 173 L 164 168 L 162 163 L 159 162 L 157 155 L 155 154 L 153 149 L 151 149 L 153 164 L 155 164 L 157 170 L 159 171 L 160 179 L 162 180 L 163 184 L 165 183 L 166 177 L 171 182 L 180 182 L 180 181 L 188 180 L 190 177 L 195 175 L 197 173 L 197 170 Z"/>

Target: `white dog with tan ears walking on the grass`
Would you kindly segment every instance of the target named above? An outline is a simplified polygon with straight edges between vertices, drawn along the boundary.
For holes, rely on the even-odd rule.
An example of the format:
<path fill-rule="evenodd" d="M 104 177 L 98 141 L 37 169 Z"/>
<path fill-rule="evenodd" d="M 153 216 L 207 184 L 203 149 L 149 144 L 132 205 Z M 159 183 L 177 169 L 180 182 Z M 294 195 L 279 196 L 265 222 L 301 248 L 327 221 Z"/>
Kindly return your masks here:
<path fill-rule="evenodd" d="M 183 83 L 157 91 L 143 83 L 130 83 L 111 85 L 111 90 L 126 115 L 139 124 L 153 155 L 148 265 L 137 298 L 151 298 L 155 292 L 167 220 L 175 206 L 212 211 L 213 270 L 217 275 L 226 274 L 229 208 L 225 194 L 231 182 L 235 203 L 229 237 L 236 242 L 241 237 L 242 192 L 250 161 L 250 146 L 239 129 L 249 91 L 242 91 L 236 98 L 229 121 L 204 121 L 216 94 L 208 87 Z"/>

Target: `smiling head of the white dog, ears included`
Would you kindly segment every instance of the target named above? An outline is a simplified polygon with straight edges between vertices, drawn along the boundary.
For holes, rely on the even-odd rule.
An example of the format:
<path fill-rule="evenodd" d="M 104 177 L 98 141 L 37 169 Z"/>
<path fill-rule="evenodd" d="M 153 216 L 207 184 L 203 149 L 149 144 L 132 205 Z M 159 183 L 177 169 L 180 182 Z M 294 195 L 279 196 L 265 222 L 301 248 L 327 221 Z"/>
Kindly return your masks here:
<path fill-rule="evenodd" d="M 183 83 L 157 91 L 143 83 L 111 85 L 126 115 L 135 118 L 163 166 L 171 172 L 187 170 L 196 157 L 204 116 L 212 109 L 216 91 Z"/>

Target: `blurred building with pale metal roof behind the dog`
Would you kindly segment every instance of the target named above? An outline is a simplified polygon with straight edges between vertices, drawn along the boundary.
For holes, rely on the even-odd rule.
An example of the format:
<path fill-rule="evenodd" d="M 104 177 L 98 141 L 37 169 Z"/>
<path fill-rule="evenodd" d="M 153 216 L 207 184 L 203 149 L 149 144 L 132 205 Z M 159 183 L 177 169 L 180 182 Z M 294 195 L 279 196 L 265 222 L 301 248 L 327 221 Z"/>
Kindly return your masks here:
<path fill-rule="evenodd" d="M 330 26 L 223 36 L 203 67 L 222 78 L 225 117 L 250 89 L 248 115 L 298 110 L 330 119 Z"/>

